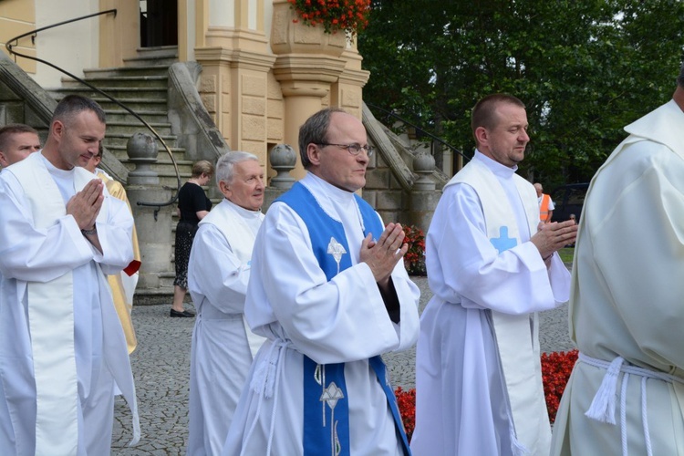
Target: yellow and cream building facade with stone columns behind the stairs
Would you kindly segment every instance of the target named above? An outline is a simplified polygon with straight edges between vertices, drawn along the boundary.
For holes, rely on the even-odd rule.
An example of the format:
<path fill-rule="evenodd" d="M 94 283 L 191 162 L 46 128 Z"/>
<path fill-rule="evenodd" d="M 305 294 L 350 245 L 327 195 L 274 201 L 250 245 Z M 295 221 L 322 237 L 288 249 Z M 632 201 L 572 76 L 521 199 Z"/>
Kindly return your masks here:
<path fill-rule="evenodd" d="M 353 39 L 294 22 L 286 0 L 3 0 L 0 44 L 77 16 L 116 13 L 41 32 L 16 50 L 81 76 L 84 68 L 124 67 L 140 49 L 177 47 L 179 61 L 202 65 L 198 91 L 232 150 L 267 166 L 278 143 L 297 149 L 299 126 L 318 109 L 338 106 L 361 118 L 361 69 Z M 17 58 L 42 87 L 62 78 Z M 303 175 L 299 164 L 292 172 Z"/>

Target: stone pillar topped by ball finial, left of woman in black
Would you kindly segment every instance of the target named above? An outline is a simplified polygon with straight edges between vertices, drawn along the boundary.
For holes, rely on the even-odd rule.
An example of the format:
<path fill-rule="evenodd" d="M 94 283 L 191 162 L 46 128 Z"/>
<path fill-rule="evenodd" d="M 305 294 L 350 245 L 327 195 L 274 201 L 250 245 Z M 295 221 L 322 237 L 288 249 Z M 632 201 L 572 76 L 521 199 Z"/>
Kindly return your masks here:
<path fill-rule="evenodd" d="M 130 161 L 136 165 L 136 169 L 129 173 L 126 192 L 133 210 L 142 257 L 136 291 L 136 299 L 140 299 L 159 291 L 161 276 L 171 270 L 171 213 L 175 206 L 147 205 L 157 202 L 164 204 L 171 200 L 171 191 L 161 187 L 157 173 L 150 168 L 157 161 L 155 140 L 148 134 L 136 133 L 130 138 L 126 150 Z"/>

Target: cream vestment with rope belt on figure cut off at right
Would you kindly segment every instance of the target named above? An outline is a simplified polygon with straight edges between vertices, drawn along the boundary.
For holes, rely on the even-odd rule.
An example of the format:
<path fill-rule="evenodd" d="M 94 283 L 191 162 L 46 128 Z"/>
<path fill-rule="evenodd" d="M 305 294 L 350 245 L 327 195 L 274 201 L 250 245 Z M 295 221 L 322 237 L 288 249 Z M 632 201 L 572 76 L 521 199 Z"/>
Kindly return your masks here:
<path fill-rule="evenodd" d="M 570 336 L 583 355 L 648 370 L 617 373 L 611 424 L 585 415 L 606 368 L 577 362 L 552 454 L 684 455 L 684 113 L 670 101 L 625 130 L 586 194 Z"/>

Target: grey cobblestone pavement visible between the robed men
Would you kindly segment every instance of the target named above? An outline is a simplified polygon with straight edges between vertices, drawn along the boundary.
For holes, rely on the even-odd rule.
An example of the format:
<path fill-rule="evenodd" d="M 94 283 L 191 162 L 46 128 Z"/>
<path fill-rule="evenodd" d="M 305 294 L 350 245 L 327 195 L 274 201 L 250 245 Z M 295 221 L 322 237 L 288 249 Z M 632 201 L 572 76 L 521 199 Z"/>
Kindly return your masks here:
<path fill-rule="evenodd" d="M 421 291 L 420 310 L 430 300 L 425 277 L 414 277 Z M 114 409 L 113 455 L 181 455 L 188 437 L 190 344 L 194 318 L 171 318 L 168 306 L 135 306 L 133 323 L 138 348 L 130 356 L 136 381 L 142 438 L 128 448 L 130 412 L 123 399 Z M 192 308 L 189 307 L 189 308 Z M 541 315 L 542 351 L 573 348 L 567 335 L 567 306 Z M 415 388 L 415 347 L 386 355 L 393 386 Z"/>

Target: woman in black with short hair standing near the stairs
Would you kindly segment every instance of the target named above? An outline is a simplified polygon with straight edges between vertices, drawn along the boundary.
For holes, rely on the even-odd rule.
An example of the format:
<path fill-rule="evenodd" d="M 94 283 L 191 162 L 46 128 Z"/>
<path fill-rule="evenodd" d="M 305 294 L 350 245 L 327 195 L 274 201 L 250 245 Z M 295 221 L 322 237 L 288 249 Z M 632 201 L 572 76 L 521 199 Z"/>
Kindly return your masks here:
<path fill-rule="evenodd" d="M 192 165 L 192 176 L 178 192 L 179 221 L 176 226 L 176 279 L 173 281 L 171 316 L 195 316 L 183 307 L 188 290 L 188 261 L 197 225 L 212 209 L 212 202 L 202 190 L 212 179 L 213 165 L 209 161 L 197 161 Z"/>

